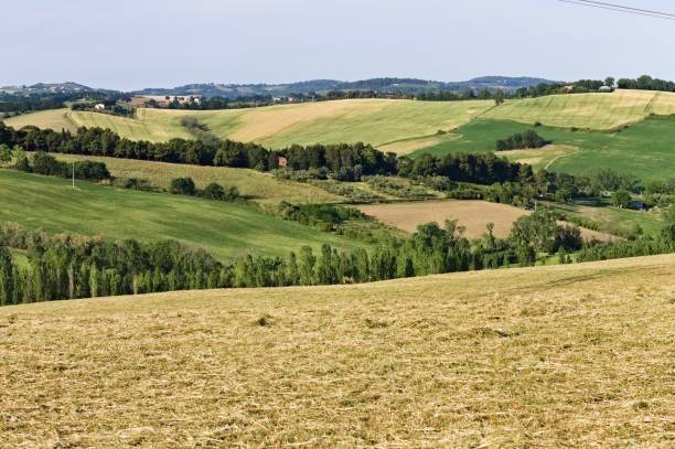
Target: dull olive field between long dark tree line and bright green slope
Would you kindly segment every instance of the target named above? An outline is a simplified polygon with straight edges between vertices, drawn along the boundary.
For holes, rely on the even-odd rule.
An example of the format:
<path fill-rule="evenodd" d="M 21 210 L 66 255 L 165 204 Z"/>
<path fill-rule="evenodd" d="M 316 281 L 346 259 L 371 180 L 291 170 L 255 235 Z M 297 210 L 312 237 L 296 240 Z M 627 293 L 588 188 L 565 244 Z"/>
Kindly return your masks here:
<path fill-rule="evenodd" d="M 78 154 L 53 154 L 62 161 L 94 160 L 104 162 L 116 178 L 142 178 L 154 186 L 168 189 L 172 179 L 190 177 L 197 189 L 211 182 L 236 186 L 244 196 L 262 203 L 340 203 L 345 200 L 310 184 L 285 181 L 270 173 L 228 167 L 200 167 L 182 163 L 139 161 Z"/>

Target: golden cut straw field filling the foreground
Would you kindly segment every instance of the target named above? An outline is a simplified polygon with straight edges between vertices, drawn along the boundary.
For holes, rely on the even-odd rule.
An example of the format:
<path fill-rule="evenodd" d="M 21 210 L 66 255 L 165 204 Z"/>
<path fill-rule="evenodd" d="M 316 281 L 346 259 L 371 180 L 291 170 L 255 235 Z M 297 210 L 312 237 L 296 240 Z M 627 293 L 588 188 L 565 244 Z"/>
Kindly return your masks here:
<path fill-rule="evenodd" d="M 6 447 L 673 445 L 675 256 L 0 308 Z"/>

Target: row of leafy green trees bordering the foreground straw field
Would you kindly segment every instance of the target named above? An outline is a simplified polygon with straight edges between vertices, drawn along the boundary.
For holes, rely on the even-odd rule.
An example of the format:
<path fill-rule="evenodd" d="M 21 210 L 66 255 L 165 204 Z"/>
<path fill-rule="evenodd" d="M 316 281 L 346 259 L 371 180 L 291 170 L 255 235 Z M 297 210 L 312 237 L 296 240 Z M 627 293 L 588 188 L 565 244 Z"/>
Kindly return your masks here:
<path fill-rule="evenodd" d="M 538 224 L 544 220 L 544 224 Z M 101 238 L 0 228 L 0 304 L 110 295 L 228 287 L 272 287 L 366 282 L 400 277 L 532 265 L 539 250 L 578 246 L 575 233 L 555 218 L 523 218 L 507 240 L 492 227 L 476 242 L 457 222 L 419 226 L 409 238 L 390 238 L 369 252 L 339 253 L 323 245 L 319 255 L 303 247 L 288 258 L 253 256 L 223 264 L 178 242 L 110 242 Z M 570 234 L 570 236 L 566 236 Z M 28 266 L 13 263 L 9 248 L 26 252 Z"/>

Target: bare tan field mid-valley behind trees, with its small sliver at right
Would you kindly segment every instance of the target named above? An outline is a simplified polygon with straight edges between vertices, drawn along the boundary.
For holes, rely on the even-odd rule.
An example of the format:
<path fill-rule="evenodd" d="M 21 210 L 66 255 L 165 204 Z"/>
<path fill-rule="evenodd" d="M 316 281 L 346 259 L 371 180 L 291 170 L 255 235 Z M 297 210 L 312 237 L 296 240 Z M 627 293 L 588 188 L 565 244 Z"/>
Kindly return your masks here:
<path fill-rule="evenodd" d="M 488 223 L 494 224 L 494 235 L 505 238 L 513 223 L 529 212 L 507 204 L 489 203 L 486 201 L 418 201 L 414 203 L 374 204 L 358 206 L 363 213 L 374 216 L 383 223 L 398 227 L 406 232 L 414 232 L 417 226 L 436 222 L 440 226 L 446 220 L 457 220 L 464 226 L 464 236 L 479 238 L 486 228 Z M 582 229 L 583 238 L 599 240 L 611 239 L 612 236 L 591 229 Z"/>

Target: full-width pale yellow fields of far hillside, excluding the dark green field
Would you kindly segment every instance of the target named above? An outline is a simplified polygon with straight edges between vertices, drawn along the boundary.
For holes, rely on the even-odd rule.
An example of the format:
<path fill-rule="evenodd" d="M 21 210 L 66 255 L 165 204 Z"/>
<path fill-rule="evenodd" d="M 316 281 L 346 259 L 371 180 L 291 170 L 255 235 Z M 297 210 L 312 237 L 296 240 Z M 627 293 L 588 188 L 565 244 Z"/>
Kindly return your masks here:
<path fill-rule="evenodd" d="M 164 141 L 190 138 L 180 119 L 192 115 L 217 136 L 233 140 L 270 147 L 364 141 L 404 153 L 442 142 L 447 137 L 437 131 L 453 130 L 479 117 L 608 131 L 650 115 L 671 114 L 675 114 L 675 94 L 617 90 L 508 100 L 500 107 L 492 100 L 347 99 L 215 111 L 140 109 L 135 119 L 61 109 L 13 117 L 6 124 L 57 130 L 99 126 L 135 140 Z"/>

